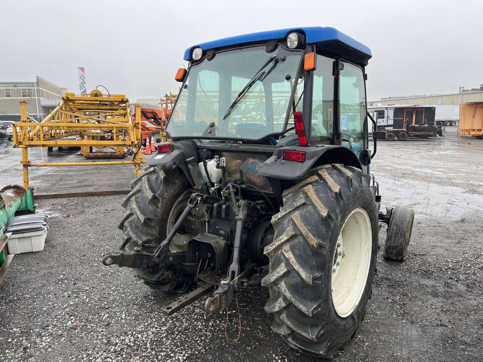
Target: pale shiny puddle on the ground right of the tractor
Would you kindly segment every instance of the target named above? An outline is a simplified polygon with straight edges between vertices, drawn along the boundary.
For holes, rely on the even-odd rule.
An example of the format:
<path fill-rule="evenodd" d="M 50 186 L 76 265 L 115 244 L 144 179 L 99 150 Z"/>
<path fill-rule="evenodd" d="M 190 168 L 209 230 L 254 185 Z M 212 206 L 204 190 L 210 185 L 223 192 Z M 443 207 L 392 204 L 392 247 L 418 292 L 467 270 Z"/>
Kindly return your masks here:
<path fill-rule="evenodd" d="M 483 211 L 483 196 L 469 194 L 459 187 L 395 179 L 384 173 L 375 176 L 379 181 L 382 204 L 409 206 L 414 209 L 416 219 L 461 220 Z"/>

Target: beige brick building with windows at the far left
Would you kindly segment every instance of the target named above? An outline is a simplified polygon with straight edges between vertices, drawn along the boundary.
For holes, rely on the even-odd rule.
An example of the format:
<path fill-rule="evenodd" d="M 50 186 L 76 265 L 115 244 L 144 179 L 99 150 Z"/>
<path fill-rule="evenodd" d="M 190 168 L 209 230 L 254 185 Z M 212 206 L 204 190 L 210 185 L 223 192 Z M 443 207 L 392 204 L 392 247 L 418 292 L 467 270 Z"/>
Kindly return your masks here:
<path fill-rule="evenodd" d="M 20 114 L 19 102 L 31 96 L 32 100 L 27 103 L 27 113 L 41 121 L 50 110 L 57 107 L 60 97 L 66 92 L 67 88 L 39 76 L 35 82 L 0 82 L 0 114 Z"/>

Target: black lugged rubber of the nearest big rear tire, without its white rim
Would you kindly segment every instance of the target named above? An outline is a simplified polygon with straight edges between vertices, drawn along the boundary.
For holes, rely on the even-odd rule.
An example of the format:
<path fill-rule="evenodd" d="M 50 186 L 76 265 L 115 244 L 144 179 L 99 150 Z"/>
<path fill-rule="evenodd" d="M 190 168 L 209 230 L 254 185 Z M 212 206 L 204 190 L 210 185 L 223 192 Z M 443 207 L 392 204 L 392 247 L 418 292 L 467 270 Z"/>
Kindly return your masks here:
<path fill-rule="evenodd" d="M 359 202 L 362 198 L 377 215 L 375 192 L 375 187 L 369 186 L 369 175 L 341 164 L 313 167 L 304 180 L 284 191 L 284 206 L 272 218 L 274 240 L 264 250 L 270 260 L 270 271 L 262 279 L 262 285 L 270 292 L 265 311 L 274 314 L 272 330 L 281 334 L 289 346 L 306 354 L 331 358 L 355 333 L 363 313 L 359 311 L 359 317 L 354 313 L 348 318 L 350 327 L 345 333 L 334 333 L 329 328 L 332 326 L 329 315 L 334 313 L 332 303 L 321 302 L 320 296 L 327 292 L 324 277 L 332 259 L 329 236 L 337 229 L 334 226 L 343 222 L 342 203 Z M 377 216 L 371 223 L 377 229 L 372 234 L 371 258 L 375 266 Z M 309 262 L 311 259 L 314 262 Z M 367 296 L 361 299 L 362 310 L 372 290 L 373 272 L 372 268 Z"/>

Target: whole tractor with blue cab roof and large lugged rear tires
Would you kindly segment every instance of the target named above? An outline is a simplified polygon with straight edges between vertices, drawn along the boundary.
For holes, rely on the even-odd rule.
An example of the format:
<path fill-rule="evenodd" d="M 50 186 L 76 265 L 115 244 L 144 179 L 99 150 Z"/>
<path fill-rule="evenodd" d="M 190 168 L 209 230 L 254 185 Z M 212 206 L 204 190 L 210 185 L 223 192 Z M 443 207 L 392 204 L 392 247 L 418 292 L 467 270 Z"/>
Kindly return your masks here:
<path fill-rule="evenodd" d="M 364 318 L 384 257 L 408 256 L 413 211 L 380 212 L 369 164 L 367 46 L 334 28 L 289 28 L 188 48 L 166 133 L 123 202 L 121 251 L 104 265 L 144 283 L 210 293 L 205 310 L 268 288 L 272 330 L 334 357 Z"/>

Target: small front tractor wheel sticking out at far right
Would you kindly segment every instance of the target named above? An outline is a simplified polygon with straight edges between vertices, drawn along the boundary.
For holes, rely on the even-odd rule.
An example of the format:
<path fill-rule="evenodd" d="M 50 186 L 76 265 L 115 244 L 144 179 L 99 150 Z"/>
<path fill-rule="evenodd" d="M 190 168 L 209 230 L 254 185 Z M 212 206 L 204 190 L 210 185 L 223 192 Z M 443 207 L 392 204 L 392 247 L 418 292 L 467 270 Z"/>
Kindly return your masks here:
<path fill-rule="evenodd" d="M 397 262 L 405 261 L 409 256 L 414 210 L 406 206 L 396 206 L 387 226 L 384 259 Z"/>

